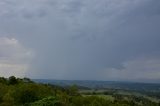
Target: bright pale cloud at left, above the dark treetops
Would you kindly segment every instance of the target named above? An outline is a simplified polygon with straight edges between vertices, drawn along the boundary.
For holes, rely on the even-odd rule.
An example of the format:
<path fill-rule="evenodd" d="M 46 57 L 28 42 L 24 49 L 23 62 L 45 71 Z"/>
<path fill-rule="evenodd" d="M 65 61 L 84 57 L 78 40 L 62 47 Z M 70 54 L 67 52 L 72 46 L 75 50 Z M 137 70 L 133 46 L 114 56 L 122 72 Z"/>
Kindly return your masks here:
<path fill-rule="evenodd" d="M 24 77 L 33 52 L 15 38 L 0 38 L 0 76 Z"/>

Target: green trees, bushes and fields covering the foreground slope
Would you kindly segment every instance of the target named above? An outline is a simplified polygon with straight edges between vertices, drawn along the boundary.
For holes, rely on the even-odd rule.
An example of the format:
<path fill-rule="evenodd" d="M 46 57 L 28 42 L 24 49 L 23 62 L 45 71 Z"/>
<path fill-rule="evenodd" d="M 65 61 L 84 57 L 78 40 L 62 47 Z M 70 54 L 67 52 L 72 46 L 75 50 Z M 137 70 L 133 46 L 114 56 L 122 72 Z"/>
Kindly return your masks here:
<path fill-rule="evenodd" d="M 29 78 L 0 78 L 0 106 L 160 106 L 159 98 L 152 99 L 115 90 L 80 92 L 76 85 L 63 88 Z"/>

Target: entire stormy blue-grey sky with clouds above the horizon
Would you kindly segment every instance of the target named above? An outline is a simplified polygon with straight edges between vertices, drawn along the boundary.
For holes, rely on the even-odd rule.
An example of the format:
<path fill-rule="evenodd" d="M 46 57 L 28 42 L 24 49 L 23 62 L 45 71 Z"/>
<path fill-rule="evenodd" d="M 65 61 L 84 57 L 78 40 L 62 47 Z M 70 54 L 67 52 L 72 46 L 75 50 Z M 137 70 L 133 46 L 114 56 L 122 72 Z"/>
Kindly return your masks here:
<path fill-rule="evenodd" d="M 0 0 L 0 76 L 160 83 L 159 0 Z"/>

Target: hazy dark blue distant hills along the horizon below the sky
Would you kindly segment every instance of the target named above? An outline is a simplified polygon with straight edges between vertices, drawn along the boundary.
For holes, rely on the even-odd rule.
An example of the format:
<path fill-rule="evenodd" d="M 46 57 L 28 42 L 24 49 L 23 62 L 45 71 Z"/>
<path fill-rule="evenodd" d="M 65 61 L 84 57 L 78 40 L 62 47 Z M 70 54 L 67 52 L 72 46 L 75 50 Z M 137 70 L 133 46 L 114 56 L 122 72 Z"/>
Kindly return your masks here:
<path fill-rule="evenodd" d="M 50 80 L 50 79 L 33 79 L 38 83 L 49 83 L 59 86 L 78 85 L 84 89 L 125 89 L 139 91 L 160 91 L 160 84 L 156 83 L 135 83 L 135 82 L 116 82 L 116 81 L 88 81 L 88 80 Z"/>

